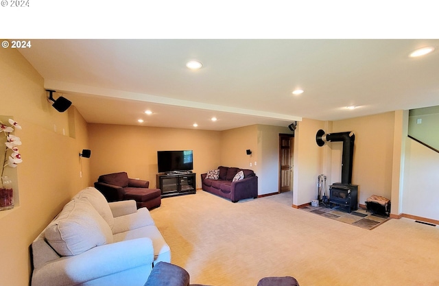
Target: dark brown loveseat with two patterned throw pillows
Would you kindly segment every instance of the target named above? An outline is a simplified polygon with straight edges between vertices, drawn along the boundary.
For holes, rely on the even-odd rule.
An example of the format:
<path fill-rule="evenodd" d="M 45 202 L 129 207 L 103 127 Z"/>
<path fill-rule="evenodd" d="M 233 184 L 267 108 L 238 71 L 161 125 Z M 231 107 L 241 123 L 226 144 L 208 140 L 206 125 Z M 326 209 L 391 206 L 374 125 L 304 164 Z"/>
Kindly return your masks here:
<path fill-rule="evenodd" d="M 233 181 L 239 171 L 242 171 L 241 178 Z M 212 178 L 209 176 L 211 174 L 217 174 L 217 177 Z M 218 169 L 201 174 L 201 182 L 204 191 L 227 198 L 232 202 L 258 196 L 258 177 L 250 169 L 219 166 Z"/>

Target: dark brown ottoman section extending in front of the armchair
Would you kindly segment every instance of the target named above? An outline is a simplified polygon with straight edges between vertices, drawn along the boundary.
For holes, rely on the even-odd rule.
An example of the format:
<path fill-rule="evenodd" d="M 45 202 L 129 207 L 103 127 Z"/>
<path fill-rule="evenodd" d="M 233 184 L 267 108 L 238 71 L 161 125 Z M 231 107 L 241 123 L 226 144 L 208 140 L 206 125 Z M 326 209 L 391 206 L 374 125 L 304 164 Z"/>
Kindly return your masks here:
<path fill-rule="evenodd" d="M 124 200 L 135 200 L 137 208 L 146 207 L 147 209 L 156 208 L 161 205 L 161 189 L 146 189 L 146 188 L 124 188 Z"/>

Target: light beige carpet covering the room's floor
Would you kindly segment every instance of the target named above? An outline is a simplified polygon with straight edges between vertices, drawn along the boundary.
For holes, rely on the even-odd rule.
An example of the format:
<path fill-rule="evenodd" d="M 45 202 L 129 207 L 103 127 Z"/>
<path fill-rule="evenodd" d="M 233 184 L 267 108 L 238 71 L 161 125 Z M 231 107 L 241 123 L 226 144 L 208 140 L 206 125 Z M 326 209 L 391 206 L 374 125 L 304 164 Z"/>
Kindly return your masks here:
<path fill-rule="evenodd" d="M 366 230 L 292 208 L 292 193 L 235 204 L 204 191 L 151 211 L 191 283 L 256 286 L 439 285 L 439 228 L 390 219 Z"/>

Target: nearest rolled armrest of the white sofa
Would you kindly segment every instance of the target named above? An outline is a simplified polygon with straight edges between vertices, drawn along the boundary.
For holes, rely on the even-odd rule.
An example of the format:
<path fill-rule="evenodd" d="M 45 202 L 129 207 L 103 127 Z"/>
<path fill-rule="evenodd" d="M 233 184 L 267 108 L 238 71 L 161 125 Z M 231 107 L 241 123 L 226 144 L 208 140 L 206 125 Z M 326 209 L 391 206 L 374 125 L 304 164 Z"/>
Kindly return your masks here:
<path fill-rule="evenodd" d="M 120 241 L 46 263 L 34 270 L 31 285 L 78 285 L 137 267 L 146 266 L 151 270 L 153 261 L 150 238 Z"/>

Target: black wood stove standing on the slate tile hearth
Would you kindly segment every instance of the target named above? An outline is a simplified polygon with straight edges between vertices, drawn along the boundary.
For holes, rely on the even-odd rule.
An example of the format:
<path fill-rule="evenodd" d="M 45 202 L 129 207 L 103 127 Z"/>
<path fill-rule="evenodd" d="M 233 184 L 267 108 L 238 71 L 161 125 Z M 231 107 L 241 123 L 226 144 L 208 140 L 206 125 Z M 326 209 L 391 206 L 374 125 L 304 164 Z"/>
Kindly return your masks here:
<path fill-rule="evenodd" d="M 358 208 L 358 186 L 336 182 L 329 186 L 329 204 L 348 208 L 349 213 Z"/>

